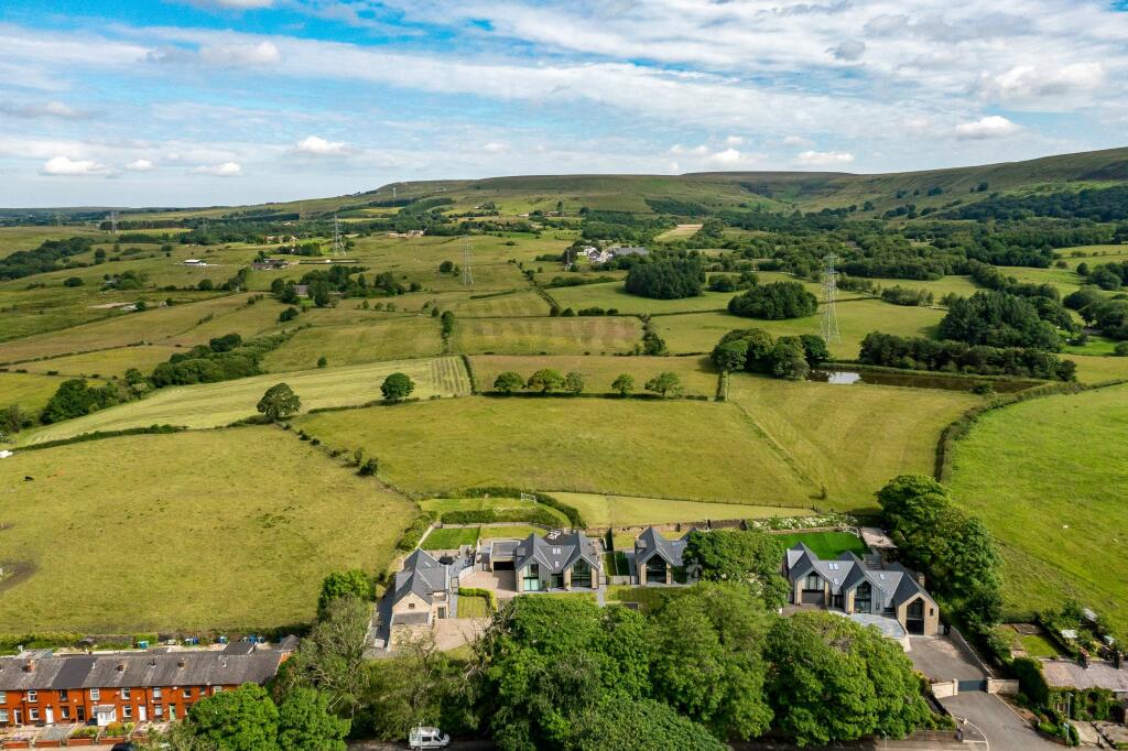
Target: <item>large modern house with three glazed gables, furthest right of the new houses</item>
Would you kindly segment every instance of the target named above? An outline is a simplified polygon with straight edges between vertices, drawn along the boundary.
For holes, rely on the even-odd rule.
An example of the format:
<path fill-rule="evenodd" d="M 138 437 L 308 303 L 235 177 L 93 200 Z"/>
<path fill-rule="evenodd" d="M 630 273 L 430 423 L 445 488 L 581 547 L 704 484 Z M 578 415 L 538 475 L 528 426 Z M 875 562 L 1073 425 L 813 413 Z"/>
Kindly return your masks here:
<path fill-rule="evenodd" d="M 834 560 L 816 556 L 802 542 L 788 548 L 783 573 L 791 583 L 790 601 L 847 616 L 892 618 L 907 634 L 940 631 L 940 608 L 918 575 L 880 557 L 862 560 L 844 553 Z"/>

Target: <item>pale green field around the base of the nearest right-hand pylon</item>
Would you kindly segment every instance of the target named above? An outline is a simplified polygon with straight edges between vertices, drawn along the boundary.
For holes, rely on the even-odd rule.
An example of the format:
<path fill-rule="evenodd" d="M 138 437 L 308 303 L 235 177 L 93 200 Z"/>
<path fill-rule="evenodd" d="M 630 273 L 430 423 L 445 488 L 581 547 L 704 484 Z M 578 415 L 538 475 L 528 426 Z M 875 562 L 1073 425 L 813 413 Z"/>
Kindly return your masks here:
<path fill-rule="evenodd" d="M 857 357 L 862 339 L 871 332 L 900 336 L 928 336 L 944 317 L 938 308 L 909 308 L 880 300 L 845 300 L 837 306 L 841 343 L 830 343 L 836 357 Z M 729 313 L 693 313 L 654 318 L 659 334 L 670 352 L 710 352 L 717 341 L 734 328 L 763 328 L 773 336 L 819 333 L 819 315 L 790 320 L 759 320 Z"/>

